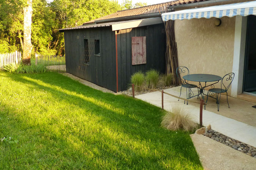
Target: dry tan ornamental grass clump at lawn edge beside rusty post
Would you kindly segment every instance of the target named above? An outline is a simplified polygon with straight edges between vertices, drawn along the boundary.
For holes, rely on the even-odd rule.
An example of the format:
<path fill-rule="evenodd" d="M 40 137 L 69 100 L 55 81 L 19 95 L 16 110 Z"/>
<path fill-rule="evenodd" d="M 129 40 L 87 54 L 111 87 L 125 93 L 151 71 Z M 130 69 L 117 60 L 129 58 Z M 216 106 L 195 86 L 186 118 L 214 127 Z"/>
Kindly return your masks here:
<path fill-rule="evenodd" d="M 198 128 L 198 124 L 192 121 L 192 117 L 185 113 L 181 107 L 173 107 L 171 112 L 167 112 L 162 117 L 162 126 L 168 130 L 193 131 Z"/>

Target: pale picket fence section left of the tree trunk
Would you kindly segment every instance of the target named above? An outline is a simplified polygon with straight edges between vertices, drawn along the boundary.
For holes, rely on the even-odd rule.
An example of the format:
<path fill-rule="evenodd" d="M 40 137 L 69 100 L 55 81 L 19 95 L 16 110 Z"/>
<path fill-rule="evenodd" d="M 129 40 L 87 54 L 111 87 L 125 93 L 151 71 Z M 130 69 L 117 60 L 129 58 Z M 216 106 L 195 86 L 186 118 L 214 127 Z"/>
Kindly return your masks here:
<path fill-rule="evenodd" d="M 3 70 L 5 65 L 19 64 L 22 60 L 21 53 L 15 51 L 13 53 L 0 54 L 0 70 Z"/>

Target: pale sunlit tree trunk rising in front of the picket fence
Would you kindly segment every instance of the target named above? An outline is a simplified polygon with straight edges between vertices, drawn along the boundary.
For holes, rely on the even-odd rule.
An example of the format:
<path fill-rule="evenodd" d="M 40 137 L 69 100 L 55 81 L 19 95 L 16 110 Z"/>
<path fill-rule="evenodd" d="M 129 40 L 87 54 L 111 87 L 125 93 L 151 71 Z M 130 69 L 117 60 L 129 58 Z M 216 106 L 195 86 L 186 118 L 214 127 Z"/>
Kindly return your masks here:
<path fill-rule="evenodd" d="M 27 6 L 24 7 L 24 42 L 23 58 L 25 65 L 30 65 L 30 57 L 33 45 L 31 43 L 31 18 L 32 18 L 32 0 L 27 0 Z"/>

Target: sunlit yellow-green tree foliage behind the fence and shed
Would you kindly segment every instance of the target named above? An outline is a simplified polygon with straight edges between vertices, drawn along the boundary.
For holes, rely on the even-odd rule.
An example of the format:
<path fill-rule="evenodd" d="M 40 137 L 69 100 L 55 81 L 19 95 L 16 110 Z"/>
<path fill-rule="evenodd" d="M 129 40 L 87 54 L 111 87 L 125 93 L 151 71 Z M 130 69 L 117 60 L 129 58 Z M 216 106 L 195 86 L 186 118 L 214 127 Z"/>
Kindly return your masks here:
<path fill-rule="evenodd" d="M 26 2 L 0 0 L 0 53 L 22 51 Z M 122 9 L 115 0 L 33 0 L 32 8 L 32 54 L 52 55 L 64 55 L 64 35 L 58 29 L 82 25 Z"/>

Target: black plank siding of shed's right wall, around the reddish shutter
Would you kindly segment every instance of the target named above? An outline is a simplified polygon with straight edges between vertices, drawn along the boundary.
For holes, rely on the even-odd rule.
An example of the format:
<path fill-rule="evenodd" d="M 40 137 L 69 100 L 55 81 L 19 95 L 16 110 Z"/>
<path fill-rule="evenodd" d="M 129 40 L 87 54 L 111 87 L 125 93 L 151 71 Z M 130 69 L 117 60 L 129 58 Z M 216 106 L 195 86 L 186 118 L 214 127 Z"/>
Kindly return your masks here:
<path fill-rule="evenodd" d="M 132 37 L 146 36 L 146 64 L 132 65 Z M 118 42 L 118 89 L 127 90 L 130 77 L 150 69 L 165 73 L 165 28 L 163 24 L 123 29 Z"/>

